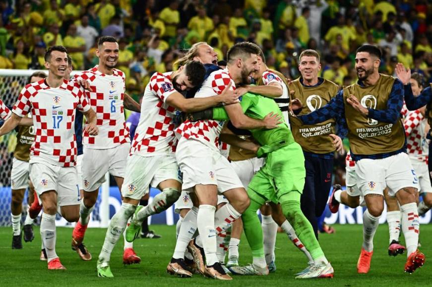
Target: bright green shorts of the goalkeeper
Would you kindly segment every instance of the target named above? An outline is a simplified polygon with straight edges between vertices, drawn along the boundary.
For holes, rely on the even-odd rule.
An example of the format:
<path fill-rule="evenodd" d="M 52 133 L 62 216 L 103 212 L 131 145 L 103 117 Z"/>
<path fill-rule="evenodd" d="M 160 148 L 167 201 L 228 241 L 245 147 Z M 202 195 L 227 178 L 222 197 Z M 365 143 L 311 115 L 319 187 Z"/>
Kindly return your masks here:
<path fill-rule="evenodd" d="M 265 165 L 250 181 L 247 193 L 257 202 L 265 199 L 278 203 L 280 197 L 288 192 L 302 193 L 305 178 L 305 157 L 302 147 L 297 143 L 289 144 L 267 155 Z"/>

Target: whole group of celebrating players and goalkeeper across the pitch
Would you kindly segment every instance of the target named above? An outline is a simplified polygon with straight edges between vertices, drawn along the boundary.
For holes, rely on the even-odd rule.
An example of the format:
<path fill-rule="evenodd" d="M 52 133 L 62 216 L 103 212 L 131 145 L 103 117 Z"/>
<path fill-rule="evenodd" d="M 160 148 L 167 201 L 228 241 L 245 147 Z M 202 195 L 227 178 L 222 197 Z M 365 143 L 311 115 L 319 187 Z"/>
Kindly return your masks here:
<path fill-rule="evenodd" d="M 405 237 L 405 271 L 412 273 L 424 264 L 425 256 L 418 250 L 416 200 L 419 180 L 422 192 L 431 192 L 431 184 L 422 184 L 425 177 L 429 180 L 427 170 L 423 172 L 422 148 L 412 156 L 422 158 L 419 177 L 411 164 L 401 109 L 404 98 L 410 110 L 432 105 L 431 88 L 413 96 L 410 72 L 401 65 L 397 69 L 400 80 L 379 74 L 378 48 L 358 48 L 359 82 L 339 91 L 336 84 L 318 77 L 320 59 L 314 50 L 301 53 L 302 76 L 290 82 L 268 69 L 255 44 L 235 44 L 228 50 L 226 66 L 220 67 L 213 48 L 197 43 L 179 60 L 178 70 L 151 76 L 140 107 L 125 94 L 123 72 L 115 69 L 116 40 L 102 37 L 97 55 L 98 66 L 69 80 L 67 51 L 60 46 L 49 48 L 48 77 L 27 85 L 12 111 L 4 107 L 1 114 L 8 119 L 0 135 L 17 125 L 34 126 L 28 170 L 43 206 L 41 236 L 49 269 L 64 269 L 55 251 L 58 206 L 66 220 L 77 222 L 72 248 L 83 260 L 91 260 L 84 234 L 99 187 L 110 172 L 123 202 L 111 219 L 98 257 L 100 277 L 113 277 L 110 256 L 122 234 L 123 262 L 139 263 L 131 242 L 142 221 L 173 204 L 181 219 L 167 266 L 171 274 L 201 273 L 219 280 L 231 280 L 230 273 L 268 275 L 276 270 L 279 225 L 308 260 L 296 278 L 333 277 L 317 240 L 316 218 L 327 203 L 333 153 L 342 149 L 345 136 L 353 159 L 347 165 L 348 190 L 335 188 L 329 205 L 332 211 L 339 203 L 367 206 L 358 272 L 370 269 L 384 190 L 388 202 L 393 200 L 392 208 L 400 206 L 393 228 L 400 229 L 400 223 Z M 132 141 L 123 108 L 140 111 Z M 86 125 L 79 155 L 74 122 L 81 112 Z M 29 113 L 33 121 L 25 118 Z M 423 115 L 418 116 L 419 122 L 431 118 L 419 114 Z M 426 128 L 422 127 L 420 136 L 424 137 Z M 138 205 L 149 187 L 161 192 L 147 206 Z M 423 212 L 431 203 L 427 195 Z M 247 266 L 238 264 L 242 223 L 253 258 Z M 16 237 L 21 240 L 19 221 Z M 395 254 L 405 249 L 397 240 L 390 245 Z"/>

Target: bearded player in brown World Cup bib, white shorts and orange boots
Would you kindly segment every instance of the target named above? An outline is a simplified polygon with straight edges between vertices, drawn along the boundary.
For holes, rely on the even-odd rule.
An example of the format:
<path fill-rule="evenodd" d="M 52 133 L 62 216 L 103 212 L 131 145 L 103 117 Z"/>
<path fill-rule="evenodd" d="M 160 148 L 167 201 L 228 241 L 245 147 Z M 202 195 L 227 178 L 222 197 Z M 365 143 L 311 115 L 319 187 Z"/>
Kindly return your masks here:
<path fill-rule="evenodd" d="M 373 254 L 373 236 L 384 209 L 383 190 L 401 204 L 402 231 L 408 259 L 405 271 L 422 266 L 425 255 L 418 247 L 419 218 L 416 204 L 418 179 L 406 154 L 405 134 L 400 121 L 404 91 L 401 81 L 378 73 L 379 48 L 363 45 L 356 51 L 357 84 L 340 91 L 328 104 L 299 118 L 316 124 L 343 115 L 348 124 L 351 156 L 356 161 L 357 185 L 365 197 L 363 246 L 357 264 L 368 273 Z M 405 92 L 406 93 L 406 92 Z"/>

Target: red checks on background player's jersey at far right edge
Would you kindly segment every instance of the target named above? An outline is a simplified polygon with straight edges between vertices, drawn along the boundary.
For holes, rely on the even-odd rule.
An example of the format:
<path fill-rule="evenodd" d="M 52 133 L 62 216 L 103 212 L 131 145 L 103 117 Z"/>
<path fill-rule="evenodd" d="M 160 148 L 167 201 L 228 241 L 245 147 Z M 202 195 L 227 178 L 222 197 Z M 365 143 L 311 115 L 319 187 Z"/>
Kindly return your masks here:
<path fill-rule="evenodd" d="M 424 120 L 424 116 L 419 110 L 410 111 L 405 117 L 404 127 L 408 153 L 423 154 L 422 141 L 425 131 L 422 131 L 422 120 Z"/>

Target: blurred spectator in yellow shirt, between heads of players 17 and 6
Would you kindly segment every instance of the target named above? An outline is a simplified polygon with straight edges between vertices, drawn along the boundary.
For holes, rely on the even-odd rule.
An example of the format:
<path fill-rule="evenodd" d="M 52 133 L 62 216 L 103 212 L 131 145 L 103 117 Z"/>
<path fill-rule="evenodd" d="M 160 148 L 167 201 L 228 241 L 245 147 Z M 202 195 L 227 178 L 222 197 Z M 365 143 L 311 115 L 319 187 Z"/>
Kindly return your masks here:
<path fill-rule="evenodd" d="M 76 70 L 84 69 L 84 52 L 86 50 L 85 40 L 76 33 L 75 24 L 71 24 L 67 29 L 67 36 L 64 37 L 63 45 L 67 49 Z"/>

